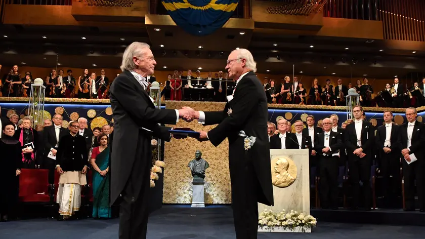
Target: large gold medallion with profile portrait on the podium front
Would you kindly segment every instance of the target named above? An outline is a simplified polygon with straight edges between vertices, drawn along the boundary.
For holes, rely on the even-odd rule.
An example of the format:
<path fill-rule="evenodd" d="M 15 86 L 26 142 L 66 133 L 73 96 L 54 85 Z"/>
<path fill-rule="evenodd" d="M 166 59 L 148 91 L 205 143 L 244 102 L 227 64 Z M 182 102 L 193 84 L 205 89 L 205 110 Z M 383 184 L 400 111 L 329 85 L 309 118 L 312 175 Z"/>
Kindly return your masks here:
<path fill-rule="evenodd" d="M 288 187 L 296 180 L 296 165 L 287 156 L 273 158 L 271 170 L 272 183 L 276 187 Z"/>

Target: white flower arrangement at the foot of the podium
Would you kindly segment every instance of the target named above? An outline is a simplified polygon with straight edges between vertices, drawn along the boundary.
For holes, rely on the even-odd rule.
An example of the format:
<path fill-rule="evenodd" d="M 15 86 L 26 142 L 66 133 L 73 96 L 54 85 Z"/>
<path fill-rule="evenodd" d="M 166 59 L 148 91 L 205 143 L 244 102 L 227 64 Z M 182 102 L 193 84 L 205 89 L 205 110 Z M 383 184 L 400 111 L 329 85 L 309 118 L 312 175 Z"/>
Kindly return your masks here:
<path fill-rule="evenodd" d="M 262 213 L 260 213 L 258 219 L 259 227 L 266 229 L 283 227 L 284 229 L 294 231 L 296 227 L 300 227 L 302 231 L 304 231 L 306 229 L 311 229 L 316 226 L 316 224 L 317 220 L 313 216 L 293 210 L 289 213 L 286 213 L 285 210 L 283 210 L 276 214 L 271 209 L 265 209 Z"/>

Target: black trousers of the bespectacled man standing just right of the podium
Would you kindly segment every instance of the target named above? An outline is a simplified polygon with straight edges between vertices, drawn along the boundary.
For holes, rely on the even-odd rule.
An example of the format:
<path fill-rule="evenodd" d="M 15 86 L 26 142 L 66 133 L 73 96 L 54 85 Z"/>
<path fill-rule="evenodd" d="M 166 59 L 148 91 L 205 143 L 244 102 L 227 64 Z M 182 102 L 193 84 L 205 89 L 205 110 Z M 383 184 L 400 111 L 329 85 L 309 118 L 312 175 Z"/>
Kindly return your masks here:
<path fill-rule="evenodd" d="M 320 156 L 319 193 L 322 208 L 338 207 L 338 160 L 337 156 Z"/>

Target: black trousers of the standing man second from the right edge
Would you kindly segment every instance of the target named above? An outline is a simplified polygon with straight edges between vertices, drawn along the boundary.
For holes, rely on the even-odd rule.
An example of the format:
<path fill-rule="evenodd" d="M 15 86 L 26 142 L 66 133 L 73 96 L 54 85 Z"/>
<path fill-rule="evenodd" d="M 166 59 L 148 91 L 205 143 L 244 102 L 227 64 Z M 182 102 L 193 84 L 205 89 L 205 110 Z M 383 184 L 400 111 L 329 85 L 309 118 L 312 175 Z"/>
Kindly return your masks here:
<path fill-rule="evenodd" d="M 382 195 L 386 207 L 397 207 L 397 196 L 400 195 L 400 153 L 381 152 L 380 171 L 382 175 Z"/>

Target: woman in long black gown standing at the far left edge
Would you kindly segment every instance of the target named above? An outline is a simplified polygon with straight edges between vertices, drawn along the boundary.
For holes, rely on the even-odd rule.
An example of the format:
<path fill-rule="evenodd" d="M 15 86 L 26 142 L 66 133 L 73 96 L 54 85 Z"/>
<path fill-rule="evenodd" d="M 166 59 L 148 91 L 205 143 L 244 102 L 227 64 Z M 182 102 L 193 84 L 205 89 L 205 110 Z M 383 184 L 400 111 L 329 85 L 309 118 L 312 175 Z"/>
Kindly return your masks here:
<path fill-rule="evenodd" d="M 15 126 L 9 122 L 3 125 L 0 138 L 0 220 L 7 221 L 16 211 L 18 203 L 19 180 L 21 174 L 21 145 L 13 138 Z"/>

